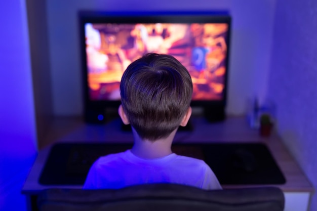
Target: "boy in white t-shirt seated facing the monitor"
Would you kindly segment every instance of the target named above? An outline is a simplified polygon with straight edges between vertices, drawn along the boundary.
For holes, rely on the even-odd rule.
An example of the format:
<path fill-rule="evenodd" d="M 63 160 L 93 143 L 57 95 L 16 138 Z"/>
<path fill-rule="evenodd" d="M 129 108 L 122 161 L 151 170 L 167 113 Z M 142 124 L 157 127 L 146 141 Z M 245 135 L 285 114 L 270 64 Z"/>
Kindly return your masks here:
<path fill-rule="evenodd" d="M 145 183 L 176 183 L 203 189 L 221 186 L 203 161 L 171 151 L 178 126 L 191 115 L 192 81 L 174 57 L 147 54 L 132 62 L 120 84 L 118 113 L 131 124 L 131 150 L 100 157 L 84 189 L 118 189 Z"/>

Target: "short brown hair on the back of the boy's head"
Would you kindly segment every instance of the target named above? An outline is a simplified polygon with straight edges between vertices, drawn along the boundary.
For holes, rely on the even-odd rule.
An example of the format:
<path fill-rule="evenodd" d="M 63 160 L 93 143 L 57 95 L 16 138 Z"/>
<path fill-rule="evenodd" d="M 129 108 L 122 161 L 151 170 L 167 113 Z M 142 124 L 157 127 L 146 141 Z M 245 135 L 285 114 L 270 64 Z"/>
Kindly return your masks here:
<path fill-rule="evenodd" d="M 174 57 L 146 54 L 132 62 L 121 83 L 122 107 L 140 138 L 168 137 L 190 106 L 192 81 Z"/>

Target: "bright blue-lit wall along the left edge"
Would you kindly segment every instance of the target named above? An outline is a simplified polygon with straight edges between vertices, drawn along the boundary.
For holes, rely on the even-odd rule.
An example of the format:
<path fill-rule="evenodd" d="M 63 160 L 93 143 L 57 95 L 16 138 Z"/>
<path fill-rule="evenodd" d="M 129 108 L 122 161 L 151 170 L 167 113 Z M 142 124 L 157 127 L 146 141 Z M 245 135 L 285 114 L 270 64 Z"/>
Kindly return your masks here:
<path fill-rule="evenodd" d="M 20 191 L 36 155 L 25 1 L 0 3 L 0 210 L 26 210 Z"/>

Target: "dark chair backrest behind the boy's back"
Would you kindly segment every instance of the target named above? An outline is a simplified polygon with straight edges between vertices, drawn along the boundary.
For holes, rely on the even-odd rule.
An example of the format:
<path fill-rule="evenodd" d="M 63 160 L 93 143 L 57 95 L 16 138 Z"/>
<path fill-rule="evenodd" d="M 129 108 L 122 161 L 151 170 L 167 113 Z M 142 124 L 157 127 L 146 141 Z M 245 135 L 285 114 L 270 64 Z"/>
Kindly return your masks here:
<path fill-rule="evenodd" d="M 282 211 L 284 194 L 276 187 L 207 191 L 176 184 L 145 184 L 117 190 L 47 189 L 37 202 L 41 211 Z"/>

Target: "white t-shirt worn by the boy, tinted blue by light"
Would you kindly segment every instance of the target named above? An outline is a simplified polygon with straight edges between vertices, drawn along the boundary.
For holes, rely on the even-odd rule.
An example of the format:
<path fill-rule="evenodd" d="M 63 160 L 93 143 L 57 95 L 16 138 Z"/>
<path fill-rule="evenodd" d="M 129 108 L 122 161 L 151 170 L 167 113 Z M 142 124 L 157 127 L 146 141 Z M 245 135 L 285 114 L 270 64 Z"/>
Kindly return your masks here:
<path fill-rule="evenodd" d="M 174 183 L 206 190 L 222 189 L 205 161 L 172 153 L 144 159 L 130 150 L 100 157 L 90 168 L 83 189 L 119 189 L 147 183 Z"/>

